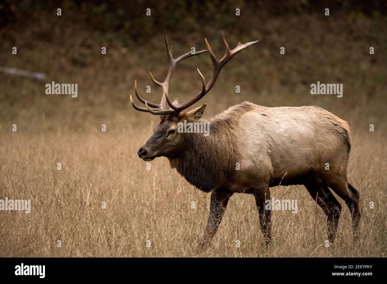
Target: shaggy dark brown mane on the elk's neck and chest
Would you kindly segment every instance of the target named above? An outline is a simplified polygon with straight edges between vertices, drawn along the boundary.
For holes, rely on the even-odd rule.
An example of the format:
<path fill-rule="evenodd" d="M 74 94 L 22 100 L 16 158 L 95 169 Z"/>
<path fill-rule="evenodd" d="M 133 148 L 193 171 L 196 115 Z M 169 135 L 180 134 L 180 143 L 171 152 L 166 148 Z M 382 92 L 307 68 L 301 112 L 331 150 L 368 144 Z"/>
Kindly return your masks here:
<path fill-rule="evenodd" d="M 250 103 L 242 103 L 209 119 L 209 136 L 204 133 L 185 133 L 181 151 L 169 158 L 172 168 L 176 168 L 190 184 L 205 192 L 213 188 L 227 186 L 235 177 L 236 163 L 239 162 L 236 136 L 238 117 L 241 112 L 251 109 Z"/>

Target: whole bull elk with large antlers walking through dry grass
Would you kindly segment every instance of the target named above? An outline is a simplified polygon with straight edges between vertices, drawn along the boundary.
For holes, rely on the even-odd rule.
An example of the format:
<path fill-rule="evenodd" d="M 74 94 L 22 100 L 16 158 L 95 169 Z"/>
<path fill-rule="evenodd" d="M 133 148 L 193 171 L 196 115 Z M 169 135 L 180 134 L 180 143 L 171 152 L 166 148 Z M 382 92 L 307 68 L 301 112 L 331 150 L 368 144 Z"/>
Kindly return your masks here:
<path fill-rule="evenodd" d="M 349 207 L 353 233 L 356 236 L 360 221 L 359 192 L 347 180 L 347 162 L 351 135 L 346 121 L 317 106 L 263 107 L 250 102 L 234 105 L 211 118 L 201 119 L 206 104 L 184 111 L 202 99 L 214 86 L 226 63 L 243 49 L 257 43 L 238 43 L 230 50 L 222 33 L 226 54 L 218 60 L 205 39 L 207 50 L 188 52 L 173 58 L 164 32 L 169 60 L 168 75 L 163 83 L 149 75 L 163 90 L 160 104 L 140 97 L 135 82 L 135 94 L 146 107 L 130 102 L 138 111 L 161 116 L 151 138 L 138 150 L 144 161 L 167 157 L 172 168 L 200 190 L 211 192 L 210 214 L 201 245 L 208 245 L 221 222 L 229 198 L 234 193 L 253 194 L 259 212 L 265 243 L 271 241 L 271 211 L 265 208 L 270 200 L 270 187 L 303 184 L 312 198 L 327 215 L 329 241 L 336 238 L 341 204 L 332 189 Z M 168 86 L 176 65 L 186 58 L 207 52 L 213 69 L 206 84 L 203 75 L 202 90 L 180 104 L 171 102 Z M 166 108 L 165 103 L 169 105 Z M 211 134 L 180 133 L 178 123 L 209 123 Z M 281 126 L 284 131 L 281 131 Z M 236 163 L 240 169 L 236 170 Z M 329 170 L 325 170 L 329 163 Z M 330 189 L 329 189 L 330 188 Z"/>

